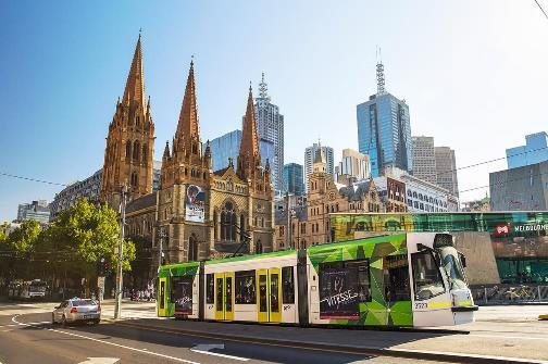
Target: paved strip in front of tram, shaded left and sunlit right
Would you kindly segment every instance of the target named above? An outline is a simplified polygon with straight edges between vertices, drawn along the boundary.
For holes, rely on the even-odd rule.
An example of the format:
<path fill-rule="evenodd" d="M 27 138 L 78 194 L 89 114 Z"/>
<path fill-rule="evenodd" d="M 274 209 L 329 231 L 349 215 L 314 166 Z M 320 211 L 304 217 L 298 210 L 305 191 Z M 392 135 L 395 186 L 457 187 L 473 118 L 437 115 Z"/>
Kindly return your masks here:
<path fill-rule="evenodd" d="M 225 341 L 369 355 L 460 363 L 548 363 L 543 361 L 548 357 L 546 346 L 548 340 L 522 341 L 516 338 L 496 336 L 478 338 L 465 331 L 459 331 L 459 327 L 454 327 L 454 330 L 427 331 L 331 329 L 175 321 L 173 318 L 133 318 L 115 322 L 115 325 Z M 524 359 L 515 357 L 516 355 Z"/>

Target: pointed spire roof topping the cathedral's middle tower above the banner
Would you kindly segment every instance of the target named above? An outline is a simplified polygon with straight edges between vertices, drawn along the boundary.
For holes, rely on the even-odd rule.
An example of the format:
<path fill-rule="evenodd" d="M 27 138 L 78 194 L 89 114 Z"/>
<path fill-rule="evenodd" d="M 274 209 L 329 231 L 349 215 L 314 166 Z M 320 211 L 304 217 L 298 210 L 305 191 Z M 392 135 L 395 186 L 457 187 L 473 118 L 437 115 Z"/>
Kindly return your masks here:
<path fill-rule="evenodd" d="M 194 76 L 194 59 L 190 61 L 190 70 L 188 71 L 187 85 L 185 97 L 183 98 L 183 106 L 180 108 L 179 121 L 176 139 L 185 139 L 185 143 L 192 138 L 200 137 L 200 127 L 198 124 L 198 105 L 196 102 L 196 83 Z"/>

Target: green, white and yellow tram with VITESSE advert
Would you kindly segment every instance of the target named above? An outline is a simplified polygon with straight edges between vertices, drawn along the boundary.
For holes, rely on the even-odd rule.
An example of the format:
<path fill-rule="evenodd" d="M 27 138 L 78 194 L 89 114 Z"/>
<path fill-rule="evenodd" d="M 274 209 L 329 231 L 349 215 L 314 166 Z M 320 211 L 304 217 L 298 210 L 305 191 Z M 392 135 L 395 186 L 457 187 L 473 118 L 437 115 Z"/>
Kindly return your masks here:
<path fill-rule="evenodd" d="M 414 233 L 161 266 L 158 315 L 299 325 L 474 321 L 449 234 Z"/>

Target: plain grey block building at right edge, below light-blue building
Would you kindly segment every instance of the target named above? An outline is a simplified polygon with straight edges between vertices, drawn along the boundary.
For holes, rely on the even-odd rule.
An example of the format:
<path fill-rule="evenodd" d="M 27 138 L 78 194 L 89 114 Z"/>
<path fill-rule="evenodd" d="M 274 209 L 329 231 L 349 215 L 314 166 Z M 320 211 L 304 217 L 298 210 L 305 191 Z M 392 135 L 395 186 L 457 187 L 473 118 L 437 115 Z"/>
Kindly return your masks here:
<path fill-rule="evenodd" d="M 491 211 L 548 210 L 548 161 L 489 173 Z"/>

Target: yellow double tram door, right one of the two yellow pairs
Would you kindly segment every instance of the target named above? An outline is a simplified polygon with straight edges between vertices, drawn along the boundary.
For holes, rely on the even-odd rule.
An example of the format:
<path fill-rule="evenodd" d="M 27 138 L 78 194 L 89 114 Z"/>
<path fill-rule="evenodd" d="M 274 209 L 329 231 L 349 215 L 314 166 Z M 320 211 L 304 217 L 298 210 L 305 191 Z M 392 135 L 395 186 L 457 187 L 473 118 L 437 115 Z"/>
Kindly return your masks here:
<path fill-rule="evenodd" d="M 282 322 L 282 276 L 279 268 L 257 271 L 257 293 L 258 322 Z"/>

